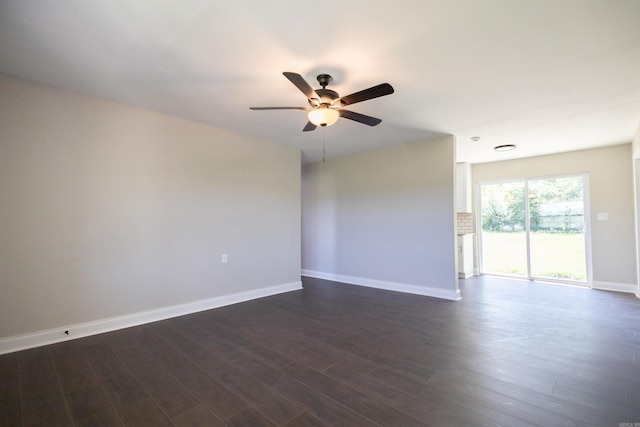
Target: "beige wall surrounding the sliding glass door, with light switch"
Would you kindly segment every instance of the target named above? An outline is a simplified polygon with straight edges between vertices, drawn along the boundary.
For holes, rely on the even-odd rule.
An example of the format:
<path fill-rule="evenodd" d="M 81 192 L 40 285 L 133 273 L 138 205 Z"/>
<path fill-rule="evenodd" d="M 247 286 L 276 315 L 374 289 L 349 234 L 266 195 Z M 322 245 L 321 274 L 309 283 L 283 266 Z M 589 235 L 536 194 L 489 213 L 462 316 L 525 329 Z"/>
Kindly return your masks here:
<path fill-rule="evenodd" d="M 586 172 L 589 174 L 593 282 L 635 287 L 636 251 L 631 144 L 473 165 L 483 181 Z M 476 188 L 474 185 L 474 192 Z M 608 221 L 598 221 L 598 213 Z M 609 286 L 611 285 L 611 286 Z"/>

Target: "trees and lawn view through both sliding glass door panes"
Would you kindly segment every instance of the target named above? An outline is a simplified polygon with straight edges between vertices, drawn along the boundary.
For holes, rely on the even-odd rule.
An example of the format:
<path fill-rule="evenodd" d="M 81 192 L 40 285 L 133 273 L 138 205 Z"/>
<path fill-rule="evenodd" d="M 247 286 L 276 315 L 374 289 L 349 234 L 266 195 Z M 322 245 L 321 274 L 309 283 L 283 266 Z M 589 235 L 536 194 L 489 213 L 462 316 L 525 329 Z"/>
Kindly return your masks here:
<path fill-rule="evenodd" d="M 479 184 L 480 270 L 591 283 L 588 175 Z"/>

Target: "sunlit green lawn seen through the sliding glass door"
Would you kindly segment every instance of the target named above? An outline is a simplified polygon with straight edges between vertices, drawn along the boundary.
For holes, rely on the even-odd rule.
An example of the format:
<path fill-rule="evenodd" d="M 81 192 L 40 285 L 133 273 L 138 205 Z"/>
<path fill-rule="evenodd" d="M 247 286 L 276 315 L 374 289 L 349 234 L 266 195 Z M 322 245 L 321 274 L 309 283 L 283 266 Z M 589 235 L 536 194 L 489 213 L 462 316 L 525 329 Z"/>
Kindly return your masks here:
<path fill-rule="evenodd" d="M 526 276 L 524 232 L 482 232 L 483 271 Z M 531 233 L 531 274 L 586 280 L 585 244 L 582 234 Z"/>

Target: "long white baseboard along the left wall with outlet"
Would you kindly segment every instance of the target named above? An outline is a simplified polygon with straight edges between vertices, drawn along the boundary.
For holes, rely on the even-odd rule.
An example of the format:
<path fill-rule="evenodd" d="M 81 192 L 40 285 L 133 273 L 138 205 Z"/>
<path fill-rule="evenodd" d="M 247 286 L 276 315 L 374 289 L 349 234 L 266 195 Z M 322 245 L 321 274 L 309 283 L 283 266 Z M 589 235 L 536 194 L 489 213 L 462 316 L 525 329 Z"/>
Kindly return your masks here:
<path fill-rule="evenodd" d="M 61 328 L 49 329 L 25 335 L 4 338 L 0 340 L 0 354 L 26 350 L 71 339 L 87 337 L 104 332 L 138 326 L 145 323 L 157 322 L 198 311 L 211 310 L 257 298 L 268 297 L 284 292 L 302 289 L 302 282 L 291 282 L 282 285 L 270 286 L 252 291 L 239 292 L 237 294 L 224 295 L 206 300 L 194 301 L 186 304 L 173 305 L 155 310 L 143 311 L 124 316 L 101 319 L 93 322 L 68 325 Z M 68 334 L 66 333 L 68 332 Z"/>

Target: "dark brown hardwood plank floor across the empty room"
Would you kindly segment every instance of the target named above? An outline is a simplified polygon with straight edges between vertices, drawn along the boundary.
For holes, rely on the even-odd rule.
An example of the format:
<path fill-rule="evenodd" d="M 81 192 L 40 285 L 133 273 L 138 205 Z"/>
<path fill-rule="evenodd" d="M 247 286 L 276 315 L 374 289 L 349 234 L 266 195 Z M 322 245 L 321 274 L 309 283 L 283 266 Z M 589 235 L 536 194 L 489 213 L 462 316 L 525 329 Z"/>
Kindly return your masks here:
<path fill-rule="evenodd" d="M 303 284 L 0 356 L 0 424 L 640 423 L 632 295 L 486 276 L 458 302 Z"/>

